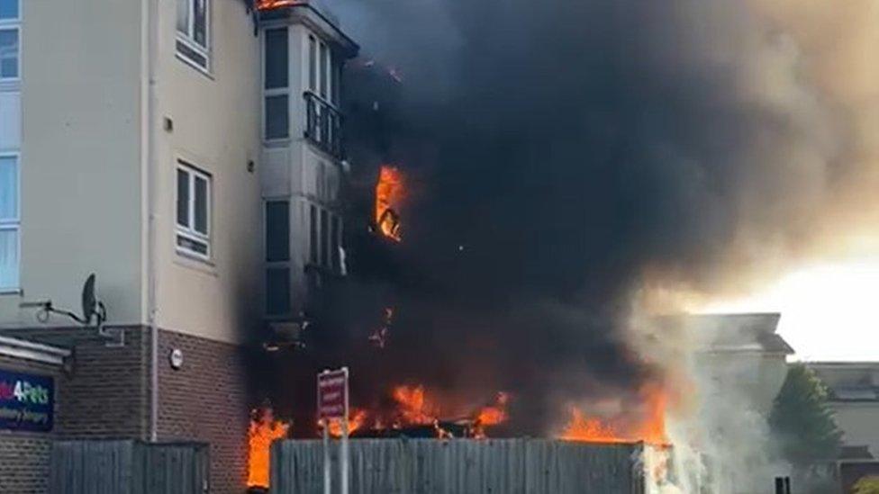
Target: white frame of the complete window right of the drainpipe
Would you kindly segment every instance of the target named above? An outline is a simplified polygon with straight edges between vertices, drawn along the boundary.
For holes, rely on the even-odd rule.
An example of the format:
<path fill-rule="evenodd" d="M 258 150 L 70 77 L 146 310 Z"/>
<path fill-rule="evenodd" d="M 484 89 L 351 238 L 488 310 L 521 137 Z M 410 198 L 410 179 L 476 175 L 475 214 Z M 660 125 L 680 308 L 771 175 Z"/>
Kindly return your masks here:
<path fill-rule="evenodd" d="M 177 202 L 179 202 L 179 197 L 177 196 L 177 174 L 181 171 L 189 175 L 189 178 L 187 179 L 189 201 L 186 208 L 186 216 L 189 222 L 188 226 L 181 225 L 178 222 L 177 218 Z M 207 229 L 207 232 L 204 233 L 195 229 L 195 177 L 202 178 L 207 183 L 207 193 L 205 197 L 206 204 L 204 205 L 206 215 L 204 226 Z M 211 211 L 212 208 L 213 176 L 211 176 L 207 172 L 200 170 L 189 161 L 186 161 L 186 159 L 177 158 L 177 166 L 175 166 L 174 168 L 174 247 L 177 250 L 177 253 L 183 254 L 185 256 L 195 256 L 204 261 L 211 260 L 211 256 L 213 256 L 213 248 L 211 246 L 211 233 L 213 230 L 213 211 Z M 180 243 L 177 241 L 177 239 L 181 237 L 193 242 L 204 244 L 205 252 L 202 253 L 186 246 L 181 246 Z"/>

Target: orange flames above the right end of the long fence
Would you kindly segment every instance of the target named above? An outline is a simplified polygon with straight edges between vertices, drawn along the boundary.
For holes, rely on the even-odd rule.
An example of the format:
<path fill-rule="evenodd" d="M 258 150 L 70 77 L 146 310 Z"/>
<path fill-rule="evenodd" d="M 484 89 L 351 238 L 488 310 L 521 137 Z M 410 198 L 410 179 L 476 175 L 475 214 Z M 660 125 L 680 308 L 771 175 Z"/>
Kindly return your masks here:
<path fill-rule="evenodd" d="M 560 438 L 566 441 L 594 443 L 631 443 L 644 441 L 653 445 L 665 445 L 666 393 L 655 385 L 645 386 L 640 393 L 645 413 L 637 423 L 629 420 L 608 420 L 587 417 L 582 410 L 571 408 L 571 418 Z"/>

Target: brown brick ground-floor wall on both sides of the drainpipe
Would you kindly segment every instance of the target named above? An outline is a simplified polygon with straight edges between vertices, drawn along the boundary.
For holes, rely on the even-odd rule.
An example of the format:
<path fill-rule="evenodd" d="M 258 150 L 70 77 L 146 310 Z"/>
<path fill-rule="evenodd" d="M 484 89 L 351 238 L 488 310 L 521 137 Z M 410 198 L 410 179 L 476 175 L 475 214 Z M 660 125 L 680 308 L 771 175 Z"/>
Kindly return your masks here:
<path fill-rule="evenodd" d="M 62 330 L 63 331 L 63 330 Z M 0 436 L 0 493 L 45 491 L 51 439 L 150 437 L 150 330 L 124 328 L 125 346 L 79 339 L 68 370 L 54 373 L 55 430 L 51 435 Z M 16 331 L 16 337 L 57 342 L 56 330 Z M 184 364 L 171 368 L 179 348 Z M 168 330 L 159 331 L 159 441 L 211 445 L 212 494 L 241 494 L 247 478 L 248 374 L 240 346 Z M 5 483 L 4 483 L 5 482 Z M 19 482 L 13 487 L 10 482 Z"/>

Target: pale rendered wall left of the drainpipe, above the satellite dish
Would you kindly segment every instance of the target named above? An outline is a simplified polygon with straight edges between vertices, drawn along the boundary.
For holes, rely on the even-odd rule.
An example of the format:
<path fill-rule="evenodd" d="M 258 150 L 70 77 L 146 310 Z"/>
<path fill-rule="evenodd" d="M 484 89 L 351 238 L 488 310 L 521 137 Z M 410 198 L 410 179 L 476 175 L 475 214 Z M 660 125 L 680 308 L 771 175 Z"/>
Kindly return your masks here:
<path fill-rule="evenodd" d="M 140 2 L 22 6 L 23 296 L 0 323 L 36 324 L 23 300 L 78 312 L 93 271 L 110 322 L 139 322 Z"/>

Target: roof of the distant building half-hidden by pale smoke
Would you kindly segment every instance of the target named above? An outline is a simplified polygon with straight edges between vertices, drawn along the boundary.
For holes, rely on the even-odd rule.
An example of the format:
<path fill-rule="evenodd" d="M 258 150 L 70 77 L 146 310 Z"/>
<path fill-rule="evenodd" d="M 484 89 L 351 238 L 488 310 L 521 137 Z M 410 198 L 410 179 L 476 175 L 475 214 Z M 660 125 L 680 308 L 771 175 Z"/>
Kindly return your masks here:
<path fill-rule="evenodd" d="M 709 352 L 760 352 L 792 355 L 776 330 L 781 314 L 687 314 L 660 318 L 661 325 L 677 325 L 693 332 L 702 350 Z"/>

